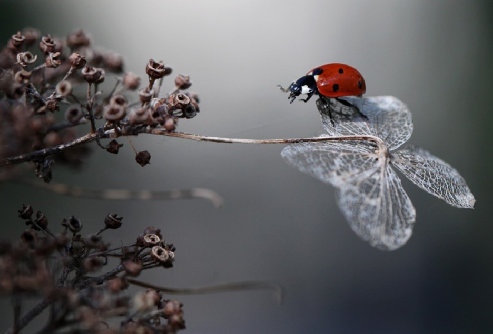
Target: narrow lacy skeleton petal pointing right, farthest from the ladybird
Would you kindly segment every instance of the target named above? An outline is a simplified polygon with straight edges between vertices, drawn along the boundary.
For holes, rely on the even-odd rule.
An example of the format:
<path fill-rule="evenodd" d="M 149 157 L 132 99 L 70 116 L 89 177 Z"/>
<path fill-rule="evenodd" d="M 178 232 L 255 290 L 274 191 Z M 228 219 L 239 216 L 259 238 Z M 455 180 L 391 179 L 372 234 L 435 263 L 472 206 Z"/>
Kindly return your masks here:
<path fill-rule="evenodd" d="M 453 206 L 473 208 L 475 199 L 459 172 L 417 146 L 392 153 L 390 163 L 421 189 Z"/>

